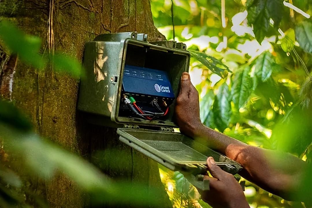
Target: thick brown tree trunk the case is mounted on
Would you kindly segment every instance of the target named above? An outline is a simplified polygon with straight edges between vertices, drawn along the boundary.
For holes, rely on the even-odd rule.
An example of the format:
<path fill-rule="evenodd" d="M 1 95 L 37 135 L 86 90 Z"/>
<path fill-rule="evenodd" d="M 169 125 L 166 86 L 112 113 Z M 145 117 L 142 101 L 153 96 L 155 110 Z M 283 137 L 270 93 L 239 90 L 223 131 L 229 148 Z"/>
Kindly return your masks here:
<path fill-rule="evenodd" d="M 1 0 L 0 20 L 5 19 L 28 34 L 40 36 L 43 54 L 64 51 L 79 60 L 85 41 L 102 33 L 138 31 L 147 33 L 149 41 L 164 39 L 154 27 L 149 0 Z M 79 80 L 51 68 L 38 70 L 25 65 L 0 46 L 0 93 L 29 115 L 41 136 L 90 161 L 106 164 L 102 167 L 95 163 L 111 177 L 163 189 L 159 206 L 171 207 L 155 162 L 120 143 L 116 129 L 85 123 L 76 111 L 78 88 Z M 106 154 L 105 149 L 117 149 L 119 157 Z M 92 157 L 98 150 L 104 151 L 103 157 Z M 110 164 L 118 164 L 118 170 L 110 168 Z M 49 183 L 31 180 L 30 186 L 51 207 L 92 205 L 62 174 Z M 36 204 L 34 199 L 29 200 Z"/>

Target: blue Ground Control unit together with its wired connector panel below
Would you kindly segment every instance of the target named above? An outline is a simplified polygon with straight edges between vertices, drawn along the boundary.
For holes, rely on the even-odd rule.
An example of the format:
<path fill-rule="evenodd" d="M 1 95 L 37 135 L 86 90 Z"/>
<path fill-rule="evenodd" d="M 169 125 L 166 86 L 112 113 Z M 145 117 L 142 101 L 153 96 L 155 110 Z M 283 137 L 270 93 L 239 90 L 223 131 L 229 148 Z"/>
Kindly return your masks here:
<path fill-rule="evenodd" d="M 146 120 L 165 118 L 174 98 L 166 71 L 124 66 L 121 116 Z"/>

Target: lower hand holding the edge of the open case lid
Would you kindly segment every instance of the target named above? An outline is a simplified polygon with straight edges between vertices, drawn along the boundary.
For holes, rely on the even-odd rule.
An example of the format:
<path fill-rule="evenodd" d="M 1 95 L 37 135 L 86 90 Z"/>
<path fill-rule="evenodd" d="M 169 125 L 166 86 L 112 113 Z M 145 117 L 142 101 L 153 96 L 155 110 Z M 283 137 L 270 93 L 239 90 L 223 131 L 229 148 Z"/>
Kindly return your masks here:
<path fill-rule="evenodd" d="M 213 208 L 250 208 L 244 192 L 234 176 L 223 171 L 212 157 L 207 158 L 207 166 L 212 177 L 209 180 L 210 190 L 202 191 L 197 188 L 202 200 Z"/>

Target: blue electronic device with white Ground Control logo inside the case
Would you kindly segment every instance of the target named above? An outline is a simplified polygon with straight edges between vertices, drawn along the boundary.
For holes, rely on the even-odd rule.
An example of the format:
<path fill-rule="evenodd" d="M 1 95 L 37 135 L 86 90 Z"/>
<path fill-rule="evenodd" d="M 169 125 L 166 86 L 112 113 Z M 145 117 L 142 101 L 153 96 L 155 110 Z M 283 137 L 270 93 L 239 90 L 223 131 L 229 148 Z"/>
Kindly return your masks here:
<path fill-rule="evenodd" d="M 123 90 L 127 94 L 174 99 L 173 90 L 166 71 L 125 65 L 122 84 Z"/>

